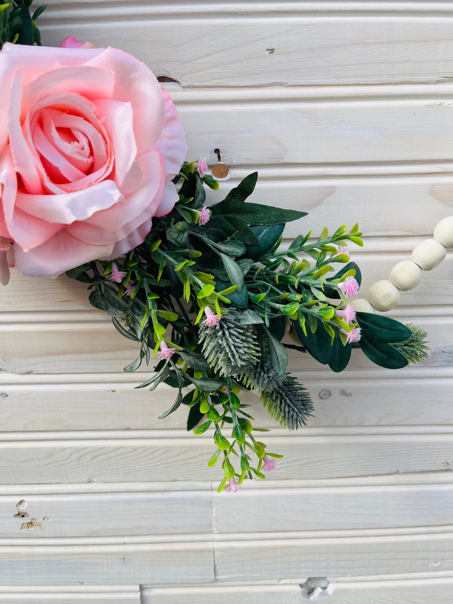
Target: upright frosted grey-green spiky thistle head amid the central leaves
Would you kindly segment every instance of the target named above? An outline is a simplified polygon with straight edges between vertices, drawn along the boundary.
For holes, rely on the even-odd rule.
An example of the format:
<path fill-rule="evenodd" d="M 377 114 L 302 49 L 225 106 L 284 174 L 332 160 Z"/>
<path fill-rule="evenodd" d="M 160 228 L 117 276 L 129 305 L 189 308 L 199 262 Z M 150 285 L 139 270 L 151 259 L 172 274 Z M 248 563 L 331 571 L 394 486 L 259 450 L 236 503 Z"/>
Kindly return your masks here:
<path fill-rule="evenodd" d="M 220 376 L 236 376 L 259 361 L 259 346 L 251 325 L 240 323 L 240 313 L 230 309 L 216 325 L 204 321 L 199 341 L 208 363 Z"/>

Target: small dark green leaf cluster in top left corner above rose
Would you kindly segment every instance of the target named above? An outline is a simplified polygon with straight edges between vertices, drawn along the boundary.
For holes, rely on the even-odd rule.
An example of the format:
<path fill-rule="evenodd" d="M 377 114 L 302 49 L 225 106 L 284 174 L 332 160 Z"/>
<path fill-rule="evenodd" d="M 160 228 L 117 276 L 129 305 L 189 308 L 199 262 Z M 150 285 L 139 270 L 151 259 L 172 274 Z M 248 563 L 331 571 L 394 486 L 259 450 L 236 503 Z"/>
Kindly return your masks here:
<path fill-rule="evenodd" d="M 33 46 L 41 45 L 41 35 L 36 27 L 36 19 L 47 8 L 42 4 L 31 14 L 33 0 L 0 0 L 0 47 L 5 42 Z"/>

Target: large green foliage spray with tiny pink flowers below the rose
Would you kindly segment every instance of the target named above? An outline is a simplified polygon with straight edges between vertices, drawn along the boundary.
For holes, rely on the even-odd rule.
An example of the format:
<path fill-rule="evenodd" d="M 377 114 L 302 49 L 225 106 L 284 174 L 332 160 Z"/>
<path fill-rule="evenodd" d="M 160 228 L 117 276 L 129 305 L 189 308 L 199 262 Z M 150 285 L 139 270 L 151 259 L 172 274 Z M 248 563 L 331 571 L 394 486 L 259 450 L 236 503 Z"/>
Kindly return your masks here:
<path fill-rule="evenodd" d="M 285 223 L 306 213 L 246 202 L 257 173 L 209 211 L 205 185 L 216 190 L 217 181 L 201 178 L 193 163 L 185 163 L 175 181 L 182 181 L 178 203 L 154 219 L 143 244 L 67 274 L 89 284 L 91 304 L 137 342 L 138 358 L 125 371 L 160 356 L 155 374 L 139 388 L 154 390 L 161 382 L 176 388 L 161 417 L 187 405 L 187 429 L 213 433 L 208 466 L 222 460 L 219 490 L 236 490 L 246 477 L 265 478 L 272 458 L 281 457 L 255 439 L 267 430 L 253 425 L 240 391 L 257 391 L 289 429 L 304 425 L 313 411 L 309 393 L 287 372 L 288 345 L 281 340 L 288 327 L 300 339 L 295 348 L 334 371 L 348 364 L 359 333 L 365 355 L 390 368 L 422 359 L 425 335 L 384 316 L 357 313 L 346 321 L 337 314 L 349 303 L 345 284 L 361 281 L 345 248 L 363 245 L 358 225 L 342 225 L 332 235 L 324 228 L 318 240 L 311 231 L 300 234 L 280 249 Z M 335 264 L 345 266 L 335 272 Z"/>

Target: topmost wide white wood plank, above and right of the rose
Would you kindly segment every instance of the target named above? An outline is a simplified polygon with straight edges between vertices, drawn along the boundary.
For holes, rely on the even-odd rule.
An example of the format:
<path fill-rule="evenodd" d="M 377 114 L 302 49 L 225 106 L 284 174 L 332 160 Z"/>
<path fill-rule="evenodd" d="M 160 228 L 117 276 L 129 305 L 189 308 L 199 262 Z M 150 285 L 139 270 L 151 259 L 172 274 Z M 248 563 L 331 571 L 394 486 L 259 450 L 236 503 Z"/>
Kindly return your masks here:
<path fill-rule="evenodd" d="M 449 2 L 414 13 L 426 3 L 50 4 L 43 43 L 73 35 L 118 45 L 184 86 L 431 82 L 453 71 Z"/>

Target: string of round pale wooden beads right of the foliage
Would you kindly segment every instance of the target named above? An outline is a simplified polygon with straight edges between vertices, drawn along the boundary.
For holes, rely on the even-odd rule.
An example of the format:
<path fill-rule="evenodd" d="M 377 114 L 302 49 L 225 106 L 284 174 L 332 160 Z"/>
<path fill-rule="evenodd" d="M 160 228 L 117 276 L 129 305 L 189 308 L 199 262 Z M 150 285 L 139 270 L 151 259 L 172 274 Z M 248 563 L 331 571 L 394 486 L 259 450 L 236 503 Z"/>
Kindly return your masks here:
<path fill-rule="evenodd" d="M 400 299 L 400 291 L 406 292 L 420 283 L 422 271 L 432 271 L 446 256 L 446 248 L 453 248 L 453 216 L 440 220 L 432 239 L 418 243 L 411 260 L 402 260 L 391 269 L 390 281 L 374 283 L 368 292 L 368 300 L 352 301 L 356 312 L 386 312 L 393 309 Z M 367 306 L 369 305 L 369 306 Z M 370 310 L 370 306 L 373 310 Z"/>

